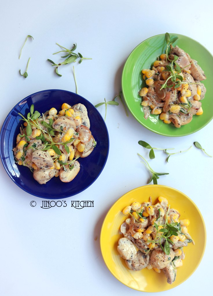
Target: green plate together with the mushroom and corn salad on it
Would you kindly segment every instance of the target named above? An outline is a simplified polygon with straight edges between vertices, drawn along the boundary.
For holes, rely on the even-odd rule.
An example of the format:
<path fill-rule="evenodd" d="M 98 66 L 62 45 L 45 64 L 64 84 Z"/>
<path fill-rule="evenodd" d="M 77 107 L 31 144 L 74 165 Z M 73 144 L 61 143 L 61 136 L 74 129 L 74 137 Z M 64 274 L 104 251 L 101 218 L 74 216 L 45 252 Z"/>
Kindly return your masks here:
<path fill-rule="evenodd" d="M 164 136 L 194 133 L 213 117 L 212 67 L 211 53 L 187 36 L 150 37 L 126 60 L 121 80 L 124 99 L 150 131 Z"/>

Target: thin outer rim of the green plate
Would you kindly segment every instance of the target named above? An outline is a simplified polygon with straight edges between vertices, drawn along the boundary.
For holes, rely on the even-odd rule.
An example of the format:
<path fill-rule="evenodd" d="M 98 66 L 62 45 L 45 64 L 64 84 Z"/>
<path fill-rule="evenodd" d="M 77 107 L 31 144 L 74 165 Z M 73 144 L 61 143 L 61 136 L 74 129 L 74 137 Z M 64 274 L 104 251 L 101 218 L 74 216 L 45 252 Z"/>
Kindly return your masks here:
<path fill-rule="evenodd" d="M 183 35 L 183 34 L 178 34 L 178 33 L 169 33 L 169 34 L 172 34 L 172 35 L 177 35 L 177 36 L 183 36 L 183 37 L 186 37 L 186 38 L 189 38 L 189 39 L 191 39 L 191 40 L 193 40 L 193 41 L 195 41 L 196 43 L 198 43 L 200 46 L 202 46 L 204 49 L 206 49 L 206 51 L 207 52 L 209 52 L 209 54 L 212 56 L 212 59 L 213 59 L 213 55 L 212 55 L 212 53 L 204 46 L 204 45 L 202 45 L 199 41 L 197 41 L 196 39 L 193 39 L 193 38 L 191 38 L 191 37 L 189 37 L 189 36 L 186 36 L 186 35 Z M 125 101 L 125 103 L 126 103 L 126 105 L 127 105 L 127 107 L 128 107 L 128 109 L 129 109 L 129 111 L 131 112 L 131 114 L 133 115 L 133 117 L 143 126 L 143 127 L 145 127 L 145 128 L 147 128 L 149 131 L 152 131 L 152 132 L 154 132 L 154 133 L 157 133 L 158 135 L 161 135 L 161 136 L 166 136 L 166 137 L 183 137 L 183 136 L 188 136 L 188 135 L 191 135 L 191 134 L 193 134 L 193 133 L 196 133 L 197 131 L 199 131 L 199 130 L 201 130 L 202 128 L 204 128 L 212 119 L 213 119 L 213 114 L 212 114 L 212 118 L 210 118 L 208 121 L 206 121 L 206 123 L 201 127 L 201 128 L 197 128 L 197 129 L 195 129 L 195 130 L 193 130 L 193 131 L 191 131 L 191 132 L 187 132 L 187 133 L 185 133 L 185 134 L 183 134 L 183 135 L 168 135 L 168 134 L 165 134 L 165 133 L 161 133 L 161 132 L 159 132 L 159 131 L 155 131 L 154 129 L 152 129 L 152 128 L 150 128 L 150 127 L 148 127 L 148 126 L 145 126 L 137 117 L 136 117 L 136 115 L 134 115 L 134 112 L 132 112 L 132 110 L 131 110 L 131 108 L 129 107 L 129 104 L 128 104 L 128 102 L 127 102 L 127 100 L 126 100 L 126 98 L 125 98 L 125 95 L 124 95 L 124 87 L 123 87 L 123 85 L 124 85 L 124 83 L 123 83 L 123 80 L 124 80 L 124 71 L 125 71 L 125 68 L 126 68 L 126 65 L 127 65 L 127 63 L 128 63 L 128 60 L 130 59 L 130 56 L 132 55 L 132 53 L 139 47 L 139 46 L 141 46 L 141 44 L 143 43 L 143 42 L 145 42 L 145 41 L 147 41 L 148 39 L 152 39 L 152 38 L 154 38 L 154 37 L 157 37 L 157 36 L 165 36 L 165 33 L 161 33 L 161 34 L 157 34 L 157 35 L 154 35 L 154 36 L 151 36 L 151 37 L 149 37 L 149 38 L 146 38 L 145 40 L 143 40 L 142 42 L 140 42 L 140 44 L 138 44 L 137 46 L 135 46 L 135 48 L 130 52 L 130 54 L 129 54 L 129 56 L 127 57 L 127 59 L 126 59 L 126 62 L 125 62 L 125 64 L 124 64 L 124 67 L 123 67 L 123 70 L 122 70 L 122 74 L 121 74 L 121 89 L 122 89 L 122 94 L 123 94 L 123 97 L 124 97 L 124 101 Z"/>

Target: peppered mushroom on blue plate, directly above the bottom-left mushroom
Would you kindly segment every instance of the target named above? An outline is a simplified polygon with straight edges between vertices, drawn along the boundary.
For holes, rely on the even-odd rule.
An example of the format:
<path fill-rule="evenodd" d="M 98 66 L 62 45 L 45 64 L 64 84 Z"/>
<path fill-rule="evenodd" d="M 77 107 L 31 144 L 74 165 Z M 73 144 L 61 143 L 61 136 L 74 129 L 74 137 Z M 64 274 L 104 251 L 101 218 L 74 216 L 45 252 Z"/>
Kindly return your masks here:
<path fill-rule="evenodd" d="M 42 150 L 36 150 L 32 153 L 32 162 L 35 163 L 39 169 L 52 168 L 54 164 L 49 153 Z"/>

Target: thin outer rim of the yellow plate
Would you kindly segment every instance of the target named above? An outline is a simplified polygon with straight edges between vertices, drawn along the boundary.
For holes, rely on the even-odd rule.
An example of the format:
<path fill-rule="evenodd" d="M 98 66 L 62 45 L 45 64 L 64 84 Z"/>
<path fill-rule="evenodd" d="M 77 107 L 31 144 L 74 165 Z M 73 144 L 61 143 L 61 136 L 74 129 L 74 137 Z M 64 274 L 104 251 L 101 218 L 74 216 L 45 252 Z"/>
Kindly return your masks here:
<path fill-rule="evenodd" d="M 160 185 L 160 184 L 150 184 L 150 185 L 144 185 L 144 186 L 139 186 L 139 187 L 136 187 L 136 188 L 134 188 L 134 189 L 131 189 L 131 190 L 129 190 L 128 192 L 126 192 L 126 193 L 124 193 L 121 197 L 119 197 L 118 198 L 118 200 L 116 200 L 116 202 L 114 202 L 113 203 L 113 205 L 110 207 L 110 209 L 108 210 L 108 212 L 107 212 L 107 214 L 105 215 L 105 218 L 104 218 L 104 220 L 103 220 L 103 223 L 102 223 L 102 226 L 101 226 L 101 231 L 100 231 L 100 249 L 101 249 L 101 255 L 102 255 L 102 258 L 103 258 L 103 260 L 104 260 L 104 263 L 105 263 L 105 265 L 107 266 L 107 268 L 108 268 L 108 270 L 110 271 L 110 273 L 118 280 L 118 281 L 120 281 L 122 284 L 124 284 L 126 287 L 129 287 L 127 284 L 125 284 L 124 282 L 122 282 L 120 279 L 118 279 L 116 276 L 115 276 L 115 274 L 110 270 L 110 268 L 109 268 L 109 266 L 108 266 L 108 264 L 107 264 L 107 262 L 105 261 L 105 257 L 104 257 L 104 255 L 103 255 L 103 250 L 102 250 L 102 237 L 103 237 L 103 227 L 104 227 L 104 224 L 105 224 L 105 222 L 106 222 L 106 219 L 107 219 L 107 216 L 108 216 L 108 214 L 110 213 L 110 210 L 112 209 L 112 207 L 114 207 L 126 194 L 129 194 L 130 192 L 134 192 L 134 191 L 136 191 L 136 190 L 138 190 L 138 189 L 141 189 L 141 188 L 145 188 L 145 187 L 160 187 L 160 188 L 168 188 L 168 189 L 172 189 L 172 190 L 174 190 L 174 191 L 176 191 L 176 192 L 178 192 L 178 193 L 180 193 L 180 194 L 182 194 L 182 195 L 184 195 L 190 202 L 192 202 L 192 204 L 196 207 L 196 209 L 198 210 L 198 213 L 200 214 L 200 217 L 201 217 L 201 221 L 202 221 L 202 223 L 203 223 L 203 225 L 204 225 L 204 249 L 203 249 L 203 251 L 202 251 L 202 254 L 201 254 L 201 256 L 200 256 L 200 258 L 199 258 L 199 261 L 198 261 L 198 264 L 197 264 L 197 266 L 196 266 L 196 268 L 193 270 L 193 272 L 191 273 L 191 274 L 189 274 L 180 284 L 178 284 L 177 286 L 180 286 L 183 282 L 185 282 L 195 271 L 196 271 L 196 269 L 198 268 L 198 266 L 200 265 L 200 263 L 201 263 L 201 260 L 203 259 L 203 256 L 204 256 L 204 252 L 205 252 L 205 250 L 206 250 L 206 225 L 205 225 L 205 221 L 204 221 L 204 218 L 203 218 L 203 216 L 202 216 L 202 214 L 201 214 L 201 211 L 199 210 L 199 208 L 198 208 L 198 206 L 195 204 L 195 202 L 193 202 L 193 200 L 192 199 L 190 199 L 190 197 L 188 197 L 185 193 L 183 193 L 183 192 L 181 192 L 180 190 L 178 190 L 178 189 L 175 189 L 175 188 L 173 188 L 173 187 L 170 187 L 170 186 L 166 186 L 166 185 Z M 177 287 L 176 286 L 176 287 Z M 133 288 L 133 287 L 129 287 L 130 289 L 134 289 L 134 290 L 137 290 L 137 291 L 140 291 L 140 292 L 147 292 L 147 293 L 153 293 L 153 291 L 144 291 L 144 290 L 140 290 L 140 289 L 137 289 L 137 288 Z M 169 291 L 169 290 L 171 290 L 171 289 L 173 289 L 173 288 L 175 288 L 175 287 L 171 287 L 170 289 L 163 289 L 163 290 L 161 290 L 161 291 L 158 291 L 158 292 L 156 292 L 155 291 L 155 293 L 159 293 L 159 292 L 164 292 L 164 291 Z"/>

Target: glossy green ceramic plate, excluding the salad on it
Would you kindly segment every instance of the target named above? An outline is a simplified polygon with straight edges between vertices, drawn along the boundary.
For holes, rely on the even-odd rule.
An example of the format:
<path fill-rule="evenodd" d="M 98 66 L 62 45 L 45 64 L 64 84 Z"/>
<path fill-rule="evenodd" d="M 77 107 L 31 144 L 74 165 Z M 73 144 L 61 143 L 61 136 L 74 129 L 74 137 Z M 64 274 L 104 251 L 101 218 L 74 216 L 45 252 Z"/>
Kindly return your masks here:
<path fill-rule="evenodd" d="M 150 115 L 147 120 L 143 117 L 143 109 L 140 104 L 141 97 L 138 95 L 138 91 L 146 85 L 145 82 L 142 81 L 141 70 L 150 68 L 156 58 L 161 53 L 165 52 L 166 45 L 164 42 L 164 34 L 146 39 L 131 52 L 124 65 L 121 79 L 124 99 L 130 112 L 137 121 L 150 131 L 170 137 L 186 136 L 194 133 L 206 126 L 213 117 L 212 54 L 194 39 L 180 34 L 170 34 L 171 38 L 175 36 L 177 36 L 178 39 L 173 45 L 178 45 L 185 50 L 190 57 L 198 61 L 198 64 L 205 72 L 206 80 L 204 81 L 204 85 L 206 87 L 206 95 L 202 100 L 202 108 L 204 111 L 202 115 L 194 115 L 193 120 L 190 123 L 181 126 L 180 128 L 175 128 L 172 123 L 165 124 L 162 120 L 158 119 L 159 115 Z"/>

